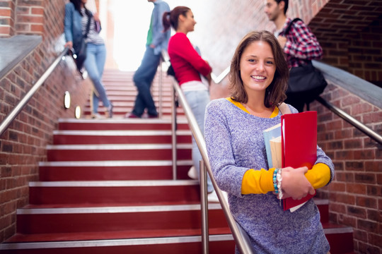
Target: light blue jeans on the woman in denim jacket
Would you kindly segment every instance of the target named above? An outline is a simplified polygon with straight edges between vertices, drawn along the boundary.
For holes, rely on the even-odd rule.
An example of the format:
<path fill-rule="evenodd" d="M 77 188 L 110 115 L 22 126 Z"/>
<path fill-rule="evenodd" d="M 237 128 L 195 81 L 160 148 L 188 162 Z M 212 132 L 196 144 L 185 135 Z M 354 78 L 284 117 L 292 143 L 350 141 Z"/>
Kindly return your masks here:
<path fill-rule="evenodd" d="M 93 113 L 98 112 L 98 102 L 103 102 L 103 107 L 109 107 L 110 101 L 106 95 L 105 87 L 101 81 L 103 68 L 106 61 L 106 47 L 104 44 L 88 43 L 86 48 L 86 59 L 83 66 L 88 71 L 89 78 L 93 82 L 98 96 L 93 92 Z"/>

